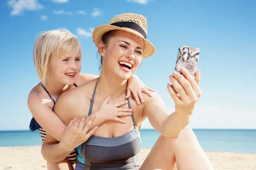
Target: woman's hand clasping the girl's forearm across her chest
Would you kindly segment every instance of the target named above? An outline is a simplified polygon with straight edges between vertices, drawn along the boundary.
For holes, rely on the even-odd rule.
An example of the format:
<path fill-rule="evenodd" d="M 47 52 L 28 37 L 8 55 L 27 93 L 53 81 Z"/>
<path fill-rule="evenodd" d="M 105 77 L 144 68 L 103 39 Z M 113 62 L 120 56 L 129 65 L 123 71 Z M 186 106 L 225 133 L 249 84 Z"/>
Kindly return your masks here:
<path fill-rule="evenodd" d="M 75 118 L 71 120 L 61 136 L 61 148 L 72 151 L 80 144 L 86 142 L 98 128 L 96 126 L 89 131 L 94 117 L 94 115 L 87 118 L 83 116 L 81 119 Z"/>

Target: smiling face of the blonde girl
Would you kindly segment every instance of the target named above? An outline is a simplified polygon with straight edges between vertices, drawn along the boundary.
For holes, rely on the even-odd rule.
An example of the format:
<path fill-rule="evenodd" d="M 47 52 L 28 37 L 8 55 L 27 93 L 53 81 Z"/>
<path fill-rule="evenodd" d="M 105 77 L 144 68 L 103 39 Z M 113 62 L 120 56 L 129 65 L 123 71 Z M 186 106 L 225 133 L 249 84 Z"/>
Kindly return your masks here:
<path fill-rule="evenodd" d="M 76 49 L 73 49 L 73 51 L 59 59 L 57 57 L 52 59 L 48 77 L 64 85 L 75 83 L 81 71 L 81 54 L 76 52 Z"/>

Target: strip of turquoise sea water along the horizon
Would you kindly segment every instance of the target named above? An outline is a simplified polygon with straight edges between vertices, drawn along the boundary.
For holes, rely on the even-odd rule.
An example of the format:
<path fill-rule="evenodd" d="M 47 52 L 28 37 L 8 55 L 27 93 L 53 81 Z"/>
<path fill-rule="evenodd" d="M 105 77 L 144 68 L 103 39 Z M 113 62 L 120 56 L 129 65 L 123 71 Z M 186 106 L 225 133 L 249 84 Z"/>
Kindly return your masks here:
<path fill-rule="evenodd" d="M 256 130 L 193 130 L 205 151 L 256 153 Z M 142 148 L 150 149 L 156 130 L 140 130 Z M 38 131 L 0 131 L 0 146 L 41 145 Z"/>

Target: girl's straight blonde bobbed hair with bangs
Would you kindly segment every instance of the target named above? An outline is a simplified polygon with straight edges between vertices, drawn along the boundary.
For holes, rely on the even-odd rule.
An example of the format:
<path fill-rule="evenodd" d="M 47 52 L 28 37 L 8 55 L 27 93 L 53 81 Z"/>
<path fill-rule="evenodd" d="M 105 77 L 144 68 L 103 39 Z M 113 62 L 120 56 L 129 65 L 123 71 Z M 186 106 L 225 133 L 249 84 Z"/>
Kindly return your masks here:
<path fill-rule="evenodd" d="M 38 76 L 45 85 L 52 59 L 70 53 L 76 49 L 81 55 L 81 45 L 75 35 L 67 29 L 44 31 L 35 41 L 33 59 Z"/>

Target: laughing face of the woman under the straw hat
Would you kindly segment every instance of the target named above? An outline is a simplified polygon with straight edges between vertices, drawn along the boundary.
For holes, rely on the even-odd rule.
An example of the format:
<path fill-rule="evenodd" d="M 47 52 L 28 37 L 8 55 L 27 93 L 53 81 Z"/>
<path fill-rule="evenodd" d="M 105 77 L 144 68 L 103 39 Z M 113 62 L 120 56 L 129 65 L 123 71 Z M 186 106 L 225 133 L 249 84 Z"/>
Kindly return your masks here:
<path fill-rule="evenodd" d="M 129 79 L 142 61 L 144 40 L 126 31 L 116 31 L 107 44 L 103 44 L 102 69 L 121 79 Z"/>

